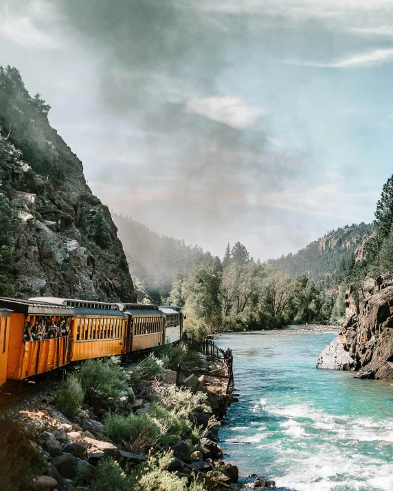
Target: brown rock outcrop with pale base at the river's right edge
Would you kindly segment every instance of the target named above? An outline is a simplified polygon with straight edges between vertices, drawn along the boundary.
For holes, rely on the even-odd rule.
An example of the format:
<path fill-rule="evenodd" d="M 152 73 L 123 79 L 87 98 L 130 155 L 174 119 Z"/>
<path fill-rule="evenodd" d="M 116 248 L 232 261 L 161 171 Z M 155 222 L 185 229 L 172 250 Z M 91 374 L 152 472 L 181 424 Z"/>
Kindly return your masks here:
<path fill-rule="evenodd" d="M 346 320 L 319 355 L 317 368 L 368 372 L 358 378 L 393 378 L 393 286 L 389 278 L 379 283 L 359 305 L 346 294 Z"/>

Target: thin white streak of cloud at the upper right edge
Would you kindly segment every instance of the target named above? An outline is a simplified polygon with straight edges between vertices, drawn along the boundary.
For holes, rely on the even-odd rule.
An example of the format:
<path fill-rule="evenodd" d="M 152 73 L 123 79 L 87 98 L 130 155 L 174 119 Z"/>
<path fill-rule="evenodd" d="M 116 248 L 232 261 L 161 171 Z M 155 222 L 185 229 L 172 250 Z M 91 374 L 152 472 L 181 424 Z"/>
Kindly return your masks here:
<path fill-rule="evenodd" d="M 341 58 L 339 60 L 333 60 L 331 62 L 308 62 L 287 60 L 285 63 L 289 65 L 301 65 L 303 67 L 320 67 L 320 68 L 357 68 L 357 67 L 370 67 L 374 65 L 381 65 L 382 63 L 390 62 L 393 58 L 393 48 L 386 49 L 374 49 L 370 52 L 358 53 Z"/>

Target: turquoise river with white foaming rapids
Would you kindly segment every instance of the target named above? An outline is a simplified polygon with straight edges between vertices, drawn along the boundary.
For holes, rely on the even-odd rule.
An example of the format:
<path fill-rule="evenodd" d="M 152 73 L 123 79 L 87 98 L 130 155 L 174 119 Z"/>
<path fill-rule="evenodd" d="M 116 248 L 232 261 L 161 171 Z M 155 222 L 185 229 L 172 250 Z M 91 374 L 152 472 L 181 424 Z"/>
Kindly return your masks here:
<path fill-rule="evenodd" d="M 337 331 L 223 334 L 240 401 L 220 431 L 225 460 L 296 491 L 393 490 L 393 380 L 317 370 Z"/>

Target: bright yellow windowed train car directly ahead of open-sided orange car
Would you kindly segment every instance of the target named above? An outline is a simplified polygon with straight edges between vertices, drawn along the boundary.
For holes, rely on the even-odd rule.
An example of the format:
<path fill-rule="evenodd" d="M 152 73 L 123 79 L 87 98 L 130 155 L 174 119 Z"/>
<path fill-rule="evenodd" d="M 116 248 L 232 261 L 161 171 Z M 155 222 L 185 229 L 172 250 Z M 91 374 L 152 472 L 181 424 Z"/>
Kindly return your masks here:
<path fill-rule="evenodd" d="M 100 301 L 41 297 L 73 309 L 69 361 L 125 353 L 128 316 L 116 304 Z"/>

